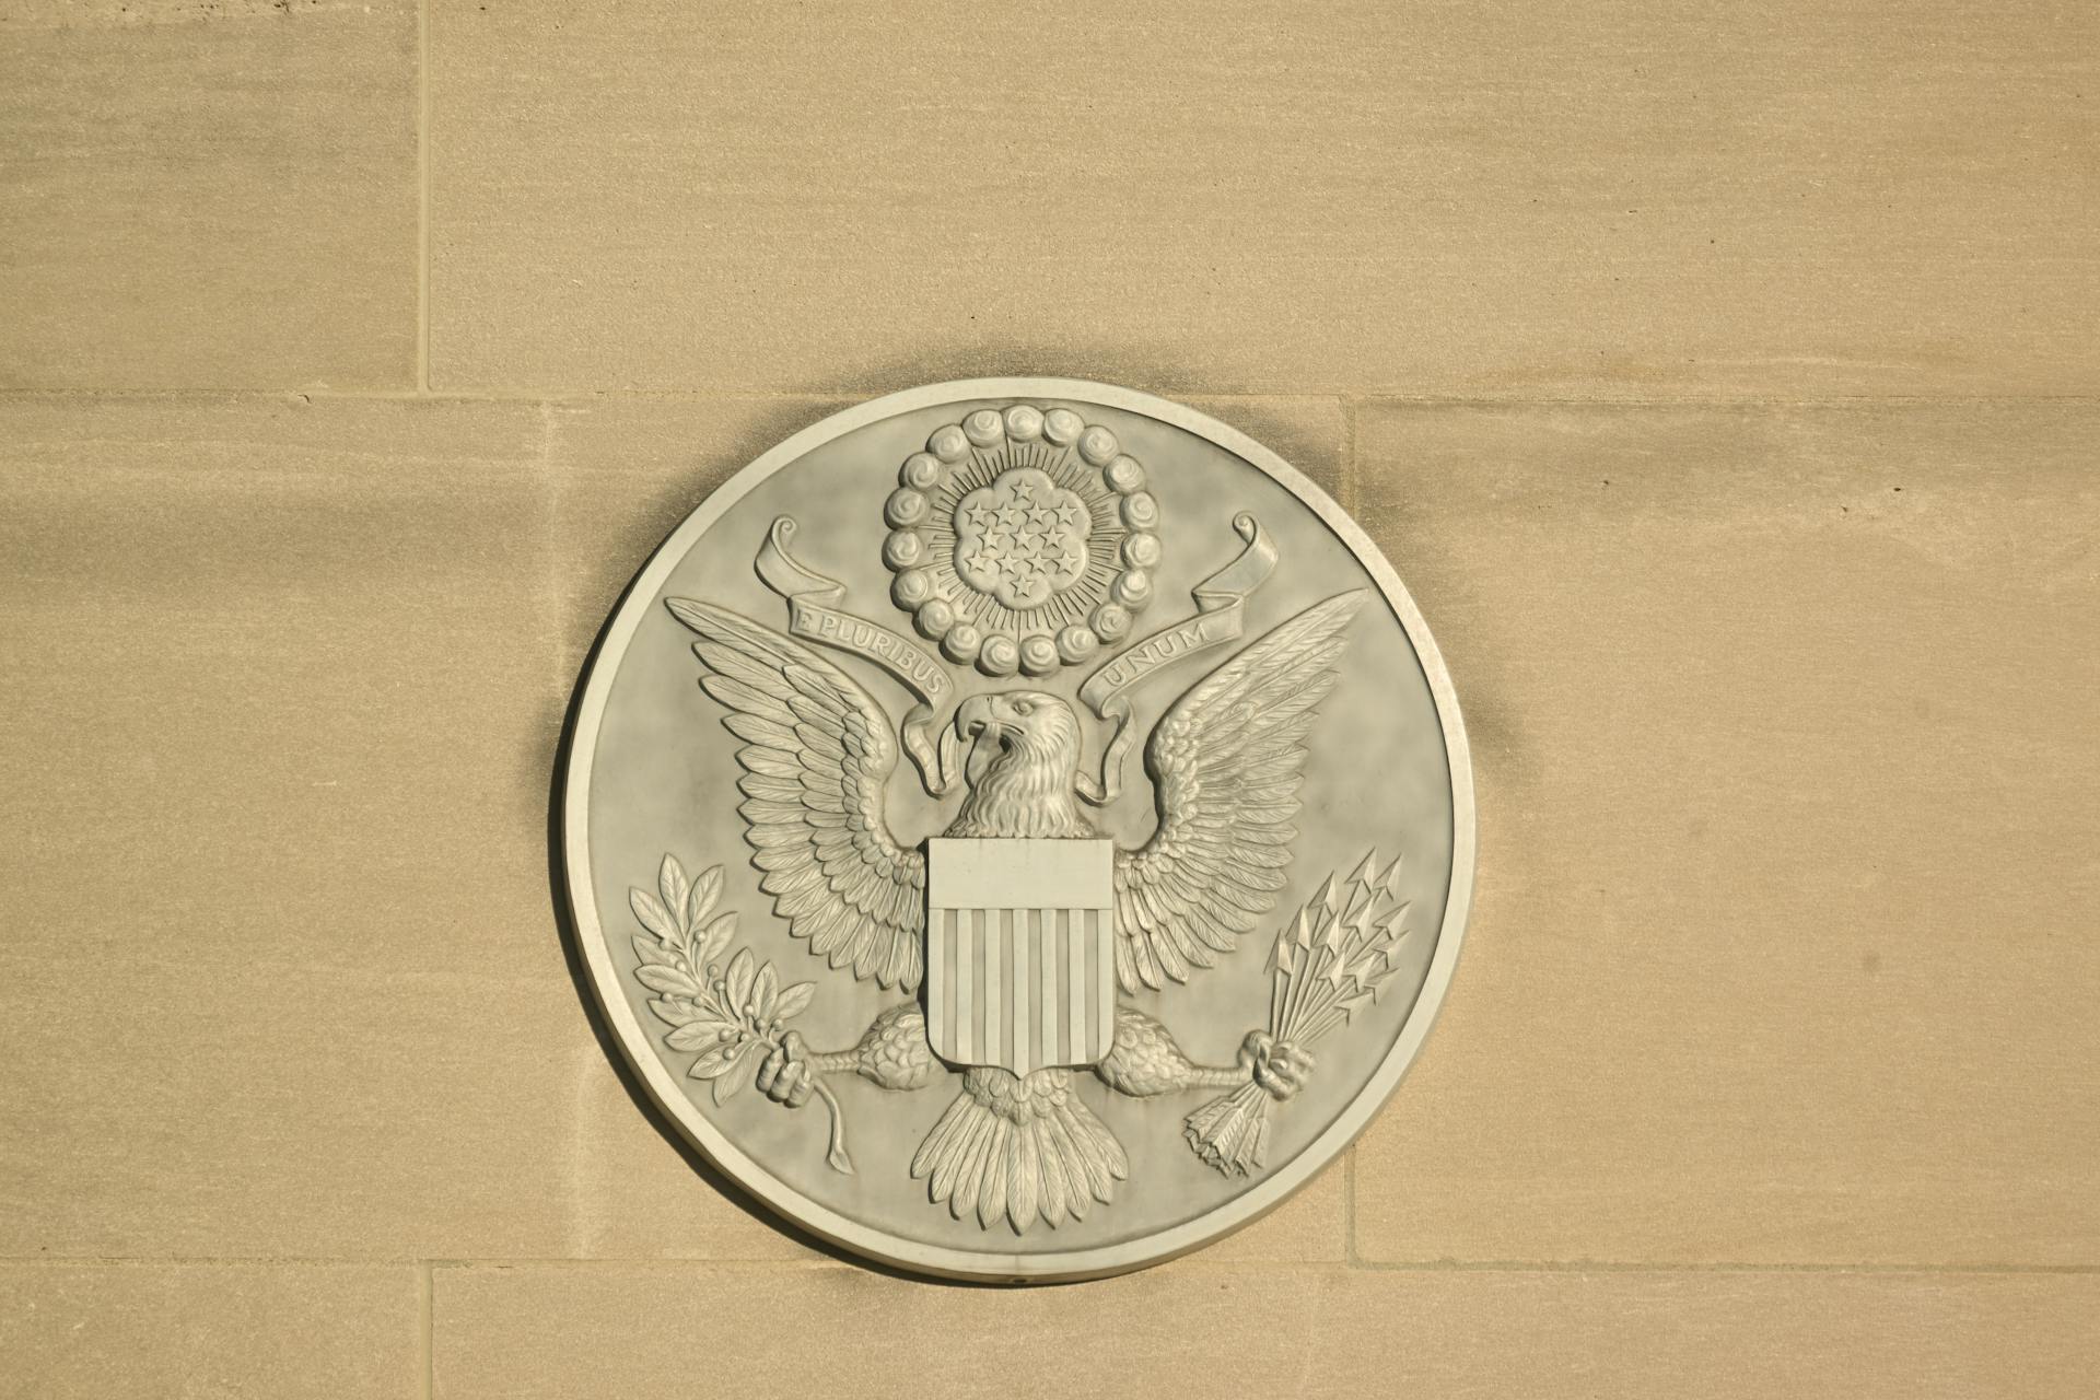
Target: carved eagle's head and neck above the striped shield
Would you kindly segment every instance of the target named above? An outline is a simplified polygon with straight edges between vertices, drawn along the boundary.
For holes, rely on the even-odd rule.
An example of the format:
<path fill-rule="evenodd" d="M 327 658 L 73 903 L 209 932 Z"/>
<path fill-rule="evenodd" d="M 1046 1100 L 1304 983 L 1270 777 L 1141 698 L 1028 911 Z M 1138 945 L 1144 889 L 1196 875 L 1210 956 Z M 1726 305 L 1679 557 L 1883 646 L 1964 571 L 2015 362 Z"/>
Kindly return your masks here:
<path fill-rule="evenodd" d="M 1079 718 L 1042 691 L 972 695 L 956 707 L 968 747 L 949 835 L 1094 835 L 1079 814 Z"/>

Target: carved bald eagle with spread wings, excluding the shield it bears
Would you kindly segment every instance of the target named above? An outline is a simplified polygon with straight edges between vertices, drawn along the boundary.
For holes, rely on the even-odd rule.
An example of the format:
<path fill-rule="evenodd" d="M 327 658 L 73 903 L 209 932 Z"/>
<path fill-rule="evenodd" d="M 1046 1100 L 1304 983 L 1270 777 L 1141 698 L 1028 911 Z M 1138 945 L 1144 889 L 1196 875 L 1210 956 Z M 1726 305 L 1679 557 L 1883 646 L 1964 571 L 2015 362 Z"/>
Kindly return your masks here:
<path fill-rule="evenodd" d="M 1231 953 L 1285 888 L 1304 779 L 1304 739 L 1336 682 L 1344 632 L 1367 592 L 1327 598 L 1279 623 L 1191 686 L 1153 728 L 1144 770 L 1157 827 L 1115 850 L 1115 978 L 1126 993 L 1184 984 Z M 670 598 L 695 634 L 701 686 L 743 741 L 739 812 L 760 888 L 788 932 L 832 968 L 914 991 L 924 970 L 926 856 L 884 812 L 897 768 L 890 718 L 846 672 L 802 642 L 708 602 Z M 1082 728 L 1044 691 L 974 695 L 947 743 L 964 796 L 943 835 L 1098 837 L 1079 793 Z M 1237 1066 L 1199 1066 L 1166 1026 L 1117 1007 L 1115 1041 L 1092 1073 L 1119 1094 L 1231 1087 L 1252 1077 L 1277 1098 L 1310 1056 L 1250 1035 Z M 859 1045 L 806 1052 L 790 1037 L 758 1070 L 785 1104 L 823 1073 L 916 1089 L 949 1066 L 934 1058 L 916 1003 L 886 1010 Z M 1016 1232 L 1109 1201 L 1128 1173 L 1121 1144 L 1073 1091 L 1071 1070 L 962 1070 L 962 1091 L 911 1163 L 953 1215 Z"/>

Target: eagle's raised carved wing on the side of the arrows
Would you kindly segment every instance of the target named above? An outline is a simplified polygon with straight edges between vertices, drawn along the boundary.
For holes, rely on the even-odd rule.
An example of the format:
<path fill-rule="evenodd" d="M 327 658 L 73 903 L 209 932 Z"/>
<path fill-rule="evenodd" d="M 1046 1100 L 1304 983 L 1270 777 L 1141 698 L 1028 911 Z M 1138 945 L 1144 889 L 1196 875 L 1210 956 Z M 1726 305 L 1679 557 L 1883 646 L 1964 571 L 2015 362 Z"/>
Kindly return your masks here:
<path fill-rule="evenodd" d="M 1159 827 L 1115 852 L 1115 978 L 1189 980 L 1277 905 L 1298 835 L 1304 735 L 1369 594 L 1317 602 L 1191 686 L 1144 745 Z"/>

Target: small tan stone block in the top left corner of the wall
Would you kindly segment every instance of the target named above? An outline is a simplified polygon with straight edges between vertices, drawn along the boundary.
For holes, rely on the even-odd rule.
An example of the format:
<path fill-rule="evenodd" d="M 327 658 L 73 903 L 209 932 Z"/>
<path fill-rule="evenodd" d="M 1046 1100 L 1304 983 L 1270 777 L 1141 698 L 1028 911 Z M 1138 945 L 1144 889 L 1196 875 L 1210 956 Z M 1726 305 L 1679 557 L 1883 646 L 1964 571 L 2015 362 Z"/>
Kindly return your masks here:
<path fill-rule="evenodd" d="M 0 4 L 0 388 L 412 388 L 416 4 Z"/>

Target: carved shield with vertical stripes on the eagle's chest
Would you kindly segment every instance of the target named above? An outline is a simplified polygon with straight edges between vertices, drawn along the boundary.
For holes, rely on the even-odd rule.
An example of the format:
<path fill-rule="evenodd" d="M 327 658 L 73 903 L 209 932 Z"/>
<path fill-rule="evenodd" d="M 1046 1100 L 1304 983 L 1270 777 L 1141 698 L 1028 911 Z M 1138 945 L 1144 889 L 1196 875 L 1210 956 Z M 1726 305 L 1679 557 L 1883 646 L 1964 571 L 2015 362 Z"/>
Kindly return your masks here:
<path fill-rule="evenodd" d="M 926 842 L 926 1039 L 1014 1075 L 1115 1039 L 1115 842 Z"/>

